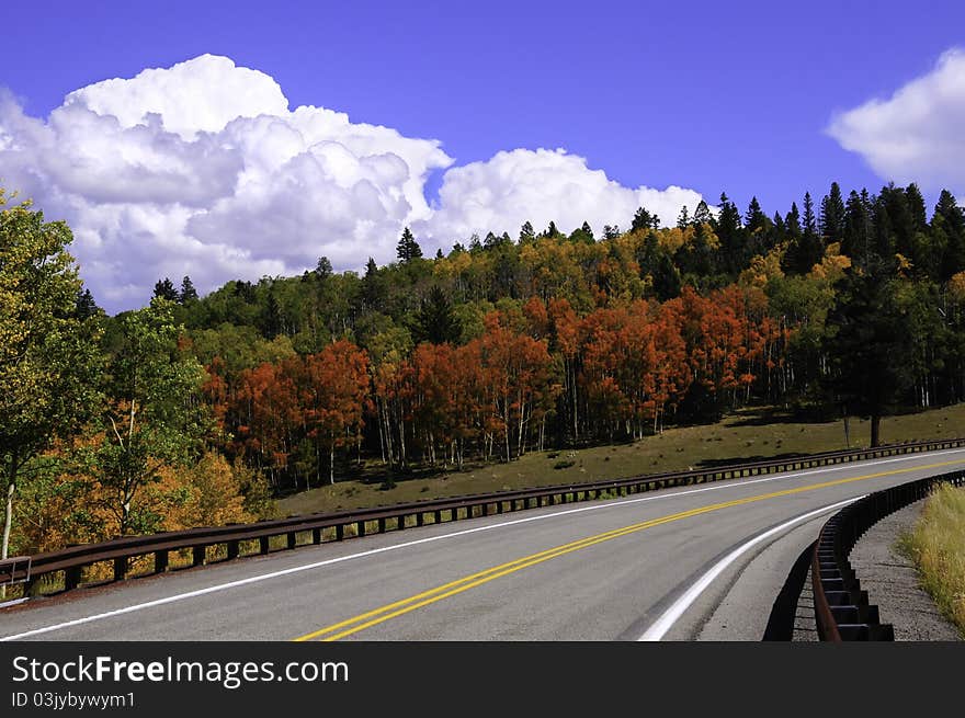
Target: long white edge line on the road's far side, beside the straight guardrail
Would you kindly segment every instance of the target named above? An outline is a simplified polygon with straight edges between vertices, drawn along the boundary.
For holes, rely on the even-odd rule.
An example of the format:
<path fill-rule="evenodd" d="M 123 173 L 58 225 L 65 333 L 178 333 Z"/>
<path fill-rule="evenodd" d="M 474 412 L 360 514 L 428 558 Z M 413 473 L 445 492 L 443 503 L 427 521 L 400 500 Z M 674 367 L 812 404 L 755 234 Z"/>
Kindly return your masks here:
<path fill-rule="evenodd" d="M 185 601 L 188 599 L 196 599 L 197 596 L 207 595 L 209 593 L 215 593 L 217 591 L 226 591 L 228 589 L 236 589 L 238 586 L 248 585 L 251 583 L 259 583 L 261 581 L 269 581 L 271 579 L 276 579 L 282 575 L 290 575 L 292 573 L 299 573 L 302 571 L 309 571 L 317 568 L 322 568 L 326 566 L 331 566 L 333 563 L 342 563 L 343 561 L 349 561 L 359 558 L 365 558 L 367 556 L 375 556 L 377 554 L 384 554 L 386 551 L 394 551 L 400 548 L 409 548 L 411 546 L 420 546 L 422 544 L 430 544 L 432 542 L 443 540 L 446 538 L 456 538 L 458 536 L 466 536 L 468 534 L 475 534 L 484 531 L 492 531 L 495 528 L 504 528 L 507 526 L 515 526 L 519 524 L 530 523 L 532 521 L 544 521 L 546 518 L 555 518 L 557 516 L 567 516 L 577 513 L 582 513 L 584 511 L 600 511 L 602 509 L 610 509 L 613 506 L 622 506 L 631 503 L 644 503 L 647 501 L 658 501 L 663 499 L 672 499 L 674 497 L 682 497 L 692 493 L 703 493 L 704 491 L 719 491 L 723 489 L 733 489 L 736 487 L 742 486 L 751 486 L 754 483 L 764 483 L 768 481 L 781 481 L 785 479 L 794 479 L 803 476 L 811 476 L 814 474 L 828 474 L 830 471 L 843 471 L 847 469 L 853 469 L 856 466 L 875 466 L 878 464 L 892 464 L 895 461 L 911 461 L 915 459 L 921 459 L 926 457 L 935 457 L 942 456 L 945 454 L 961 454 L 965 452 L 965 449 L 943 449 L 941 452 L 923 452 L 913 455 L 900 456 L 897 458 L 888 458 L 888 459 L 875 459 L 872 461 L 849 461 L 848 464 L 843 464 L 841 466 L 830 466 L 830 467 L 821 467 L 819 469 L 809 469 L 806 471 L 791 471 L 787 474 L 776 474 L 774 476 L 768 476 L 762 479 L 751 479 L 749 481 L 741 480 L 726 480 L 720 483 L 716 483 L 709 487 L 703 487 L 700 489 L 688 489 L 685 491 L 674 491 L 672 493 L 661 493 L 657 495 L 642 497 L 637 499 L 618 499 L 604 504 L 595 504 L 590 506 L 580 506 L 578 509 L 568 509 L 566 511 L 556 511 L 547 514 L 540 514 L 537 516 L 526 516 L 525 518 L 515 518 L 513 521 L 504 521 L 498 524 L 488 524 L 486 526 L 477 526 L 475 528 L 466 528 L 463 531 L 456 531 L 447 534 L 441 534 L 439 536 L 429 536 L 427 538 L 420 538 L 417 540 L 405 542 L 402 544 L 393 544 L 391 546 L 383 546 L 379 548 L 373 548 L 367 551 L 361 551 L 359 554 L 350 554 L 348 556 L 340 556 L 337 558 L 330 558 L 325 561 L 316 561 L 314 563 L 305 563 L 303 566 L 295 566 L 290 569 L 282 569 L 280 571 L 272 571 L 271 573 L 261 573 L 259 575 L 252 575 L 247 579 L 240 579 L 238 581 L 229 581 L 227 583 L 218 583 L 212 586 L 207 586 L 205 589 L 198 589 L 196 591 L 188 591 L 185 593 L 178 593 L 172 596 L 164 596 L 163 599 L 156 599 L 155 601 L 147 601 L 145 603 L 136 603 L 130 606 L 124 606 L 123 608 L 115 608 L 113 611 L 107 611 L 100 614 L 93 614 L 90 616 L 84 616 L 82 618 L 75 618 L 72 620 L 66 620 L 59 624 L 53 624 L 50 626 L 44 626 L 42 628 L 34 628 L 32 630 L 26 630 L 21 634 L 12 634 L 10 636 L 0 636 L 0 642 L 2 641 L 11 641 L 19 640 L 22 638 L 30 638 L 31 636 L 39 636 L 42 634 L 48 634 L 50 631 L 60 630 L 63 628 L 71 628 L 73 626 L 80 626 L 83 624 L 89 624 L 95 620 L 102 620 L 104 618 L 112 618 L 114 616 L 121 616 L 128 613 L 134 613 L 136 611 L 143 611 L 145 608 L 155 608 L 157 606 L 163 606 L 169 603 L 175 603 L 178 601 Z"/>

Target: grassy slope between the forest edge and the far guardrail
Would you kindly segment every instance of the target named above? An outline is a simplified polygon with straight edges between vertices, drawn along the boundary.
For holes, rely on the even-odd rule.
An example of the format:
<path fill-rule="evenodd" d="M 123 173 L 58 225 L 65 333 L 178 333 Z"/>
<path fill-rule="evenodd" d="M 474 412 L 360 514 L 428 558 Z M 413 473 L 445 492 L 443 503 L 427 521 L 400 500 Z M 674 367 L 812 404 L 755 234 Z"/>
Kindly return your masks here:
<path fill-rule="evenodd" d="M 851 448 L 869 445 L 869 422 L 852 419 Z M 965 434 L 965 404 L 882 421 L 883 442 L 952 438 Z M 616 479 L 706 468 L 776 456 L 847 448 L 841 420 L 808 422 L 774 410 L 745 410 L 716 424 L 669 429 L 613 446 L 534 452 L 509 464 L 478 464 L 463 471 L 396 476 L 378 463 L 342 480 L 277 501 L 281 515 L 362 509 L 468 493 Z"/>

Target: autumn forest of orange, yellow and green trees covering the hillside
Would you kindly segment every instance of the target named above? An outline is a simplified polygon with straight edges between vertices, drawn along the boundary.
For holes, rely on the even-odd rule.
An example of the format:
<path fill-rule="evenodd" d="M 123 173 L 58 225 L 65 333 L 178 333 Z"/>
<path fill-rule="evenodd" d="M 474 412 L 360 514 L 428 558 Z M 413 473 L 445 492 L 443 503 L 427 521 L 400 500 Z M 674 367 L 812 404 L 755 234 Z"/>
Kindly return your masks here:
<path fill-rule="evenodd" d="M 5 202 L 4 202 L 4 196 Z M 871 419 L 965 398 L 965 214 L 918 186 L 767 214 L 554 223 L 423 255 L 159 278 L 107 316 L 70 228 L 0 193 L 2 556 L 271 515 L 379 467 L 646 441 L 748 406 Z"/>

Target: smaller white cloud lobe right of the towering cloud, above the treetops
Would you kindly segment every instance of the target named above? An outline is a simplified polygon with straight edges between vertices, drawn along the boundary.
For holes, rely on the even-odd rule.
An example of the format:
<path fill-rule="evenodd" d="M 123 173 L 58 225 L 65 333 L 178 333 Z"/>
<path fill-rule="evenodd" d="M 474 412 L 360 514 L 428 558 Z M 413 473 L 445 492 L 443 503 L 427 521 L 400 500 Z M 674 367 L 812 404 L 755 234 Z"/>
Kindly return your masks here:
<path fill-rule="evenodd" d="M 672 226 L 683 205 L 693 213 L 700 201 L 699 193 L 678 186 L 625 187 L 563 149 L 514 149 L 449 170 L 438 207 L 416 231 L 444 244 L 490 230 L 514 238 L 525 221 L 541 231 L 552 220 L 565 232 L 589 221 L 599 236 L 605 225 L 629 229 L 640 206 Z"/>

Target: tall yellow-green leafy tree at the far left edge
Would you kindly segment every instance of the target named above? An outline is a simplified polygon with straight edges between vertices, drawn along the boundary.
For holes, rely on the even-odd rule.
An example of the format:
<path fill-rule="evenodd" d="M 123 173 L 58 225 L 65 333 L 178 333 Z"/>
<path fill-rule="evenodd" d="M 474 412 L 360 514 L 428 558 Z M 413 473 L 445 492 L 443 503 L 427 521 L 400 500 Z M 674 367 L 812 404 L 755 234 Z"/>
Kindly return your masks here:
<path fill-rule="evenodd" d="M 98 318 L 77 309 L 83 294 L 66 250 L 71 240 L 66 224 L 45 223 L 29 202 L 0 209 L 0 558 L 30 463 L 75 434 L 96 406 Z"/>

